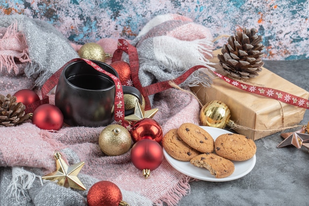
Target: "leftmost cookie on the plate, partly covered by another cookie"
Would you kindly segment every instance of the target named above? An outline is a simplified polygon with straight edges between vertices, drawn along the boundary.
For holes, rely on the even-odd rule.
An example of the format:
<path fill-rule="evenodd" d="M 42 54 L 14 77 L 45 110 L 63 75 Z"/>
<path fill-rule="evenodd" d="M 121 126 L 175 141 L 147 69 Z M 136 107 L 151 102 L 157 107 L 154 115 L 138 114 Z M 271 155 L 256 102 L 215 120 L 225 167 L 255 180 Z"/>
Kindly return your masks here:
<path fill-rule="evenodd" d="M 163 136 L 162 146 L 171 157 L 180 161 L 189 162 L 200 154 L 179 137 L 177 129 L 171 129 Z"/>

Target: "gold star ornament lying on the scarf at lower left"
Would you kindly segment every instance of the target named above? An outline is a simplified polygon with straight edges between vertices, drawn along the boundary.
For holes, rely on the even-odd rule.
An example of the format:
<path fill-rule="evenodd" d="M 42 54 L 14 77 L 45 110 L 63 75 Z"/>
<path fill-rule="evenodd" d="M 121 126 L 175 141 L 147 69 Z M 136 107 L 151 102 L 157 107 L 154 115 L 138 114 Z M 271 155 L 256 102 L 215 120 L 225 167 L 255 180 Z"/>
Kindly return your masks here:
<path fill-rule="evenodd" d="M 64 187 L 71 187 L 78 190 L 85 190 L 85 186 L 80 182 L 77 177 L 81 167 L 85 164 L 80 162 L 74 165 L 68 165 L 61 158 L 60 152 L 56 151 L 54 154 L 56 160 L 56 171 L 42 176 L 42 179 L 57 180 L 57 184 Z"/>

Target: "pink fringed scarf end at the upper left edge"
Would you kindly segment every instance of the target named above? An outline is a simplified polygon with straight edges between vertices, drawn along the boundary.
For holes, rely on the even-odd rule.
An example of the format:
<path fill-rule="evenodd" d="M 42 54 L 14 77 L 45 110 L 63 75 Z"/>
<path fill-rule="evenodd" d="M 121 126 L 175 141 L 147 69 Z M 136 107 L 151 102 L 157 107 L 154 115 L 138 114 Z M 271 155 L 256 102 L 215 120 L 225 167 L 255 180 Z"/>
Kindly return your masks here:
<path fill-rule="evenodd" d="M 17 63 L 31 62 L 28 45 L 22 32 L 18 32 L 17 22 L 7 28 L 0 28 L 0 71 L 3 67 L 7 72 L 20 74 Z"/>

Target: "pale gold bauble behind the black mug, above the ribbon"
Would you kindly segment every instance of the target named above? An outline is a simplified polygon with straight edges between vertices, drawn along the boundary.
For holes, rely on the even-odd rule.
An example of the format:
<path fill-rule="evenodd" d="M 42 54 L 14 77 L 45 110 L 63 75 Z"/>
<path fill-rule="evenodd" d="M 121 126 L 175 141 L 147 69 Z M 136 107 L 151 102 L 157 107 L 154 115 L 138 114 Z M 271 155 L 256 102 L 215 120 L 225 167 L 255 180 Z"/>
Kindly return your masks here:
<path fill-rule="evenodd" d="M 82 59 L 106 62 L 106 53 L 102 46 L 97 43 L 85 43 L 78 50 L 78 55 Z"/>

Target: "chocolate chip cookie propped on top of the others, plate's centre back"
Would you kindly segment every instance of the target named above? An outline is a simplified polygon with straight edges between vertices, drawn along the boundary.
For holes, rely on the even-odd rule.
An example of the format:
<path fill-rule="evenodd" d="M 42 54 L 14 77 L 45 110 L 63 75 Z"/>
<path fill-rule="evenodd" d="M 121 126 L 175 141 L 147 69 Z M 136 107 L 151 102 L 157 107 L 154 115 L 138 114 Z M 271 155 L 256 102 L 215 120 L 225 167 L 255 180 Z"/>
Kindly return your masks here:
<path fill-rule="evenodd" d="M 177 130 L 178 135 L 193 149 L 201 153 L 212 153 L 214 151 L 214 139 L 212 136 L 192 123 L 184 123 Z"/>

